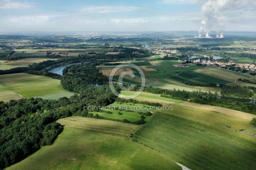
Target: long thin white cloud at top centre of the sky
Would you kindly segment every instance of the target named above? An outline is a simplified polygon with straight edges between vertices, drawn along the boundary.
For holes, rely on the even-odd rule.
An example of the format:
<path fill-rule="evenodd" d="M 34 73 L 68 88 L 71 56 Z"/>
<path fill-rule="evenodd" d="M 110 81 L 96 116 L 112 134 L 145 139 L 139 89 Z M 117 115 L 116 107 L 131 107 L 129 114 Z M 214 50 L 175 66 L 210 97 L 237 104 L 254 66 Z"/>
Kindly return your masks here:
<path fill-rule="evenodd" d="M 119 5 L 119 6 L 87 6 L 82 8 L 80 11 L 84 13 L 99 13 L 99 14 L 104 14 L 104 13 L 116 13 L 116 12 L 123 12 L 123 11 L 135 11 L 135 10 L 140 10 L 143 9 L 141 7 L 137 6 L 124 6 L 124 5 Z"/>

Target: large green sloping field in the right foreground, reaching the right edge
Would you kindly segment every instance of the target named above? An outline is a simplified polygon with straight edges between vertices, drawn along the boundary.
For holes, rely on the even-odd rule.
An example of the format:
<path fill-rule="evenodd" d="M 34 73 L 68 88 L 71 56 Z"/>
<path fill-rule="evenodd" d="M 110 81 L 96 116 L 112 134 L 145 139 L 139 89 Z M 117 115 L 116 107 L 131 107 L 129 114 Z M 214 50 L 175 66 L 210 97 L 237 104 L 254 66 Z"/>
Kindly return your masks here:
<path fill-rule="evenodd" d="M 143 100 L 152 101 L 152 96 L 148 94 Z M 154 151 L 192 170 L 256 166 L 252 159 L 256 154 L 256 139 L 252 136 L 256 127 L 250 125 L 255 115 L 189 102 L 169 105 L 172 111 L 157 111 L 134 133 L 138 144 L 153 147 Z"/>

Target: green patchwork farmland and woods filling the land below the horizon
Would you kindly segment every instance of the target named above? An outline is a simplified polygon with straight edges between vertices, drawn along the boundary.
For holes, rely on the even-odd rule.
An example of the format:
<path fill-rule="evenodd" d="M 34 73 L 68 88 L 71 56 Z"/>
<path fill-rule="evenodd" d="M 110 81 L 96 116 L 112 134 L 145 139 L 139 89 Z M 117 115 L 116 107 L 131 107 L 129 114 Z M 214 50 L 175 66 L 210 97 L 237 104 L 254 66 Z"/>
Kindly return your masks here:
<path fill-rule="evenodd" d="M 191 170 L 255 169 L 256 138 L 253 134 L 256 126 L 250 121 L 255 117 L 256 105 L 222 97 L 233 97 L 232 89 L 242 89 L 231 86 L 256 87 L 255 76 L 249 75 L 254 72 L 241 74 L 236 72 L 238 67 L 236 71 L 217 68 L 230 59 L 236 63 L 254 62 L 255 38 L 234 38 L 230 33 L 224 39 L 199 39 L 180 34 L 78 31 L 14 36 L 17 40 L 8 40 L 12 36 L 1 34 L 0 70 L 37 64 L 28 69 L 13 69 L 16 74 L 1 71 L 7 74 L 0 75 L 0 101 L 8 103 L 0 102 L 0 169 L 181 170 L 176 162 Z M 249 49 L 251 53 L 245 52 Z M 177 50 L 177 53 L 169 50 Z M 11 56 L 10 51 L 13 51 Z M 200 56 L 201 62 L 191 64 L 197 61 L 186 60 L 188 56 Z M 212 60 L 212 56 L 222 59 Z M 203 57 L 219 64 L 206 66 Z M 50 58 L 62 59 L 63 64 L 84 61 L 88 64 L 71 66 L 61 77 L 44 72 L 61 65 L 60 62 L 40 63 Z M 182 65 L 184 62 L 188 64 Z M 88 85 L 107 84 L 116 63 L 140 67 L 146 78 L 145 91 L 156 94 L 142 92 L 135 98 L 137 101 L 122 100 L 116 98 L 109 85 Z M 242 68 L 240 71 L 245 72 Z M 141 85 L 139 72 L 128 65 L 116 71 L 114 81 L 125 72 L 135 75 L 123 77 L 125 87 Z M 120 90 L 116 84 L 114 86 Z M 223 94 L 225 90 L 227 95 Z M 242 90 L 246 94 L 239 94 L 241 98 L 253 100 L 256 89 L 245 87 Z M 120 93 L 119 97 L 136 92 Z M 222 99 L 215 95 L 221 95 Z M 31 97 L 43 100 L 15 101 Z M 137 104 L 138 101 L 151 104 Z M 152 107 L 159 103 L 162 106 Z M 96 111 L 89 110 L 88 106 L 104 108 Z"/>

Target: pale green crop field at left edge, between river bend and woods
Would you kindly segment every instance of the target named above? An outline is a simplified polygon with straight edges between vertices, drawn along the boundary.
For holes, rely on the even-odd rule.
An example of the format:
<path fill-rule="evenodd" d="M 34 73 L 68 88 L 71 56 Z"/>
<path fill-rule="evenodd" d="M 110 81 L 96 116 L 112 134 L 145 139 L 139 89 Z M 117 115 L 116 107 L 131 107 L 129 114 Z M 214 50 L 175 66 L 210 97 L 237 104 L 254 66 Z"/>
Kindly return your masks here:
<path fill-rule="evenodd" d="M 49 94 L 73 94 L 61 89 L 60 80 L 26 73 L 0 75 L 0 91 L 12 91 L 25 98 Z M 6 96 L 0 94 L 0 100 Z M 51 96 L 52 97 L 52 96 Z M 12 96 L 9 97 L 9 100 Z"/>

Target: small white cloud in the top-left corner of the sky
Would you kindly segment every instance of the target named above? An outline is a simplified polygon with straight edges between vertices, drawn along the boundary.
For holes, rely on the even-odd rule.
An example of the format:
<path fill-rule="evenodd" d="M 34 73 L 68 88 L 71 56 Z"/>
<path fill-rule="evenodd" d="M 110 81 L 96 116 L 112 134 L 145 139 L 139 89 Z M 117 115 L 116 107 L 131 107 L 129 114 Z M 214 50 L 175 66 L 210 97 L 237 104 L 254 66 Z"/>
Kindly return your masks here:
<path fill-rule="evenodd" d="M 19 2 L 15 0 L 0 0 L 0 9 L 14 9 L 14 8 L 30 8 L 34 7 L 33 3 Z"/>

